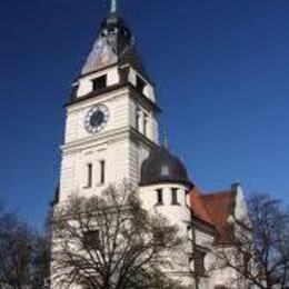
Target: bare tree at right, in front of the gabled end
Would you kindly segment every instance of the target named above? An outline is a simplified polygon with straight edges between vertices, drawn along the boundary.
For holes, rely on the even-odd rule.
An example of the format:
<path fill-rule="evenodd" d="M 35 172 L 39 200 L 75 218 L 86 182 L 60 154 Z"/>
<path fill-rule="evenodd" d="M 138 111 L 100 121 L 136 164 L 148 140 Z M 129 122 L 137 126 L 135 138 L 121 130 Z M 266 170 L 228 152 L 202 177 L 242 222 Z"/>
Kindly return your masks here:
<path fill-rule="evenodd" d="M 230 268 L 238 288 L 289 288 L 289 212 L 267 195 L 248 201 L 251 228 L 232 221 L 233 238 L 218 246 L 213 270 Z"/>

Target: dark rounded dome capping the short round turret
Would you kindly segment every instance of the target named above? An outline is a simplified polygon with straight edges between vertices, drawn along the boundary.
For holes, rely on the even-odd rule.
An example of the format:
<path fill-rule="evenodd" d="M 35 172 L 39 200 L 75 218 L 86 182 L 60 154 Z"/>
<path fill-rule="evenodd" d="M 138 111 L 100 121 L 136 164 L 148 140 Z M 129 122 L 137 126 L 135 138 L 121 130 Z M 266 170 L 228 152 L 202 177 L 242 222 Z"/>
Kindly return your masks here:
<path fill-rule="evenodd" d="M 167 149 L 152 149 L 141 166 L 140 186 L 158 183 L 181 183 L 192 186 L 181 161 Z"/>

